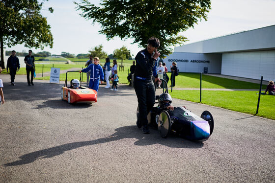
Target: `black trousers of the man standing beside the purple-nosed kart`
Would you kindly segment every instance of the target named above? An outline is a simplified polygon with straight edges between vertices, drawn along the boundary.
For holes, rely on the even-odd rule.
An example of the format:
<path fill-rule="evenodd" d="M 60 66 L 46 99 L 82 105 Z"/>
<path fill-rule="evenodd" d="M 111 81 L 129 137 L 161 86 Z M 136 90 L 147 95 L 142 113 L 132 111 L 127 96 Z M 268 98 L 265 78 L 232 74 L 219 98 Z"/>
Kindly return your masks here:
<path fill-rule="evenodd" d="M 156 93 L 153 81 L 144 81 L 140 79 L 134 80 L 134 88 L 138 97 L 139 123 L 148 125 L 147 115 L 154 107 L 156 101 Z"/>

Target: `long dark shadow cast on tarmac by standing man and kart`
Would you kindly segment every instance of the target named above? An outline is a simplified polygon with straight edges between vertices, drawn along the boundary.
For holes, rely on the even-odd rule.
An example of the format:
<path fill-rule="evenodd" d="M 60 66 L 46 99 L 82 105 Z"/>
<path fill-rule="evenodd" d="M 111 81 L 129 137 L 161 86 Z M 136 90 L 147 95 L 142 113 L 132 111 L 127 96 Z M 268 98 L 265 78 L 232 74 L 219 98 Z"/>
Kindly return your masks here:
<path fill-rule="evenodd" d="M 161 144 L 161 145 L 165 145 L 165 146 L 168 146 L 171 148 L 201 148 L 201 147 L 203 147 L 202 142 L 192 142 L 192 141 L 185 140 L 185 139 L 183 141 L 183 139 L 179 138 L 179 137 L 162 138 L 160 136 L 144 135 L 140 132 L 140 130 L 138 130 L 138 128 L 136 126 L 124 126 L 124 127 L 115 129 L 115 131 L 116 132 L 109 137 L 103 137 L 103 138 L 98 138 L 98 139 L 89 140 L 89 141 L 72 142 L 72 143 L 67 143 L 67 144 L 56 146 L 56 147 L 28 153 L 26 155 L 19 157 L 21 160 L 9 162 L 4 165 L 5 166 L 17 166 L 17 165 L 28 164 L 28 163 L 31 163 L 31 162 L 37 160 L 37 159 L 52 158 L 52 157 L 61 155 L 65 151 L 69 151 L 72 149 L 80 148 L 83 146 L 107 143 L 110 141 L 116 141 L 116 140 L 120 140 L 123 138 L 137 138 L 138 141 L 136 141 L 134 144 L 138 145 L 138 146 Z"/>

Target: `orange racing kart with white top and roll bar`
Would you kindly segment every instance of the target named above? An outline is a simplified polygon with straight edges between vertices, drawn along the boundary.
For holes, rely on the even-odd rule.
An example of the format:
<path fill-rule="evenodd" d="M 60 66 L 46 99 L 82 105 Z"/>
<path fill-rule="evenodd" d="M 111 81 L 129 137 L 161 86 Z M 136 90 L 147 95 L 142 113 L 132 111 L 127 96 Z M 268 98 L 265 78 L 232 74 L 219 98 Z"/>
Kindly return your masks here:
<path fill-rule="evenodd" d="M 79 71 L 67 71 L 66 72 L 66 80 L 64 87 L 61 88 L 61 100 L 67 100 L 69 104 L 71 103 L 79 103 L 79 102 L 97 102 L 97 92 L 95 90 L 82 87 L 81 82 L 81 73 L 80 73 L 80 87 L 78 89 L 74 89 L 72 86 L 67 87 L 67 73 L 68 72 L 79 72 Z"/>

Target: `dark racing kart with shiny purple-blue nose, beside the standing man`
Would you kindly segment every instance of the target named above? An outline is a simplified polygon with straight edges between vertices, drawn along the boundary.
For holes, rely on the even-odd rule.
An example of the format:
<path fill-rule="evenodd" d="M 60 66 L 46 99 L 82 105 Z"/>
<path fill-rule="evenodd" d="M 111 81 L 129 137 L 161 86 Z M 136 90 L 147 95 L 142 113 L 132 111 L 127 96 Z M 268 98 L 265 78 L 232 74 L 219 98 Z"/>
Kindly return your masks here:
<path fill-rule="evenodd" d="M 168 93 L 166 84 L 165 92 Z M 159 96 L 156 95 L 156 100 Z M 158 103 L 158 102 L 156 102 Z M 137 110 L 137 118 L 139 111 Z M 188 111 L 184 107 L 176 107 L 174 110 L 164 110 L 159 114 L 153 110 L 147 116 L 149 125 L 158 128 L 161 137 L 175 134 L 189 140 L 207 140 L 214 130 L 214 119 L 210 112 L 204 111 L 200 117 Z"/>

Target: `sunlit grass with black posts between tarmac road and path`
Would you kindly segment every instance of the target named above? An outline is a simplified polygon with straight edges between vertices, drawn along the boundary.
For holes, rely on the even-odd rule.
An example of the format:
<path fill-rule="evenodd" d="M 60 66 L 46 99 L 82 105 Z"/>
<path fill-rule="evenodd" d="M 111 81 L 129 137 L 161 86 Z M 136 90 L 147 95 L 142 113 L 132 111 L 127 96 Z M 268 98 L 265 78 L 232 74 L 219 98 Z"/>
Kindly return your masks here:
<path fill-rule="evenodd" d="M 169 93 L 173 98 L 199 102 L 199 91 L 174 90 Z M 241 113 L 255 114 L 259 96 L 256 93 L 256 91 L 202 91 L 201 103 Z M 275 96 L 261 95 L 257 116 L 275 119 L 274 102 Z"/>

